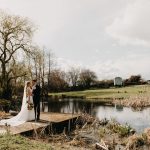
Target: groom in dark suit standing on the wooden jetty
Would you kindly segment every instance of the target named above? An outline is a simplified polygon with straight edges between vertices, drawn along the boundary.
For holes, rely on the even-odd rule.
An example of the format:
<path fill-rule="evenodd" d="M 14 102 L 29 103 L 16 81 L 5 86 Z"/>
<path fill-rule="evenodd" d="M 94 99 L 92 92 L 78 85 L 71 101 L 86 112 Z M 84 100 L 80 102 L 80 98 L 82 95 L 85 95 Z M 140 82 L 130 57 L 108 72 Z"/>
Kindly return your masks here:
<path fill-rule="evenodd" d="M 41 88 L 37 84 L 37 80 L 32 80 L 32 85 L 33 85 L 33 103 L 34 103 L 34 112 L 35 112 L 35 121 L 40 120 L 40 93 L 41 93 Z"/>

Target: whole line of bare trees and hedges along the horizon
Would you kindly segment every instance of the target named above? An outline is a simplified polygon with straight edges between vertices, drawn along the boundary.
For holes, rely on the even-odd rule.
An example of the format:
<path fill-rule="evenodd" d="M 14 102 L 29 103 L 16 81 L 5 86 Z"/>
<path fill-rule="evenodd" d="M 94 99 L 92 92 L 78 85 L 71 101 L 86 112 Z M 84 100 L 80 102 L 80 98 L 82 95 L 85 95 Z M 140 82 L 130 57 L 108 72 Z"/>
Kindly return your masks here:
<path fill-rule="evenodd" d="M 43 95 L 113 86 L 113 80 L 99 81 L 90 69 L 71 67 L 65 72 L 58 68 L 53 52 L 33 43 L 35 30 L 27 18 L 0 13 L 0 98 L 12 99 L 22 93 L 26 80 L 35 78 L 42 86 Z M 137 75 L 124 83 L 141 84 L 143 80 Z"/>

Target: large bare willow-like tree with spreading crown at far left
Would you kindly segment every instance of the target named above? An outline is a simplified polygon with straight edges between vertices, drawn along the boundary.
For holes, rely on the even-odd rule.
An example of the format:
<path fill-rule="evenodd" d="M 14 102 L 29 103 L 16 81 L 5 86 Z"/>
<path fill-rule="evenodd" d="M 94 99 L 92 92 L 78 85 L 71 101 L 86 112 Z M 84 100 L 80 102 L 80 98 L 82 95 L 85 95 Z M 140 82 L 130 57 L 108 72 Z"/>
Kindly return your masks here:
<path fill-rule="evenodd" d="M 10 70 L 9 63 L 19 52 L 30 53 L 33 25 L 28 19 L 12 16 L 1 12 L 0 14 L 0 65 L 2 97 L 8 99 L 7 84 Z M 14 77 L 11 77 L 14 78 Z"/>

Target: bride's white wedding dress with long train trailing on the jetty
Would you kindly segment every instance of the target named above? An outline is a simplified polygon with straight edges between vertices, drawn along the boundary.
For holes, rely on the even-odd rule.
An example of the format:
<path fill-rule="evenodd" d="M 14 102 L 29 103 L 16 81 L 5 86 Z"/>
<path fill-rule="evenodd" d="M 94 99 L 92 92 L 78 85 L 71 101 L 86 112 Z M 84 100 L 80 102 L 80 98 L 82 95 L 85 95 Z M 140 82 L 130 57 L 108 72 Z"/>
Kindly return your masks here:
<path fill-rule="evenodd" d="M 27 90 L 27 83 L 25 84 L 25 87 L 24 87 L 24 94 L 23 94 L 21 111 L 18 113 L 17 116 L 12 117 L 11 119 L 1 120 L 0 125 L 5 125 L 7 123 L 7 125 L 10 125 L 10 126 L 18 126 L 18 125 L 23 124 L 27 121 L 31 121 L 31 120 L 35 119 L 34 109 L 28 110 L 28 108 L 27 108 L 28 97 L 26 96 L 26 90 Z M 30 101 L 33 102 L 32 96 L 30 96 Z"/>

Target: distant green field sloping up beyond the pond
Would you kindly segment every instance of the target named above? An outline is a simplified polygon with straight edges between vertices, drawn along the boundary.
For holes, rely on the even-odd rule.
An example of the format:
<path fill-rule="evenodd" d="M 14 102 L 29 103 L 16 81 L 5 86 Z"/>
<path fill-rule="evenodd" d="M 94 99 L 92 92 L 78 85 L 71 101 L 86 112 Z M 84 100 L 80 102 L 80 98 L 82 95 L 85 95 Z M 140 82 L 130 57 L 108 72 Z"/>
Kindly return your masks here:
<path fill-rule="evenodd" d="M 150 85 L 138 85 L 138 86 L 129 86 L 122 88 L 110 88 L 110 89 L 94 89 L 94 90 L 85 90 L 85 91 L 76 91 L 76 92 L 62 92 L 62 93 L 49 93 L 52 96 L 61 97 L 62 95 L 66 96 L 75 96 L 75 97 L 85 97 L 86 99 L 114 99 L 114 98 L 128 98 L 133 95 L 150 93 Z"/>

